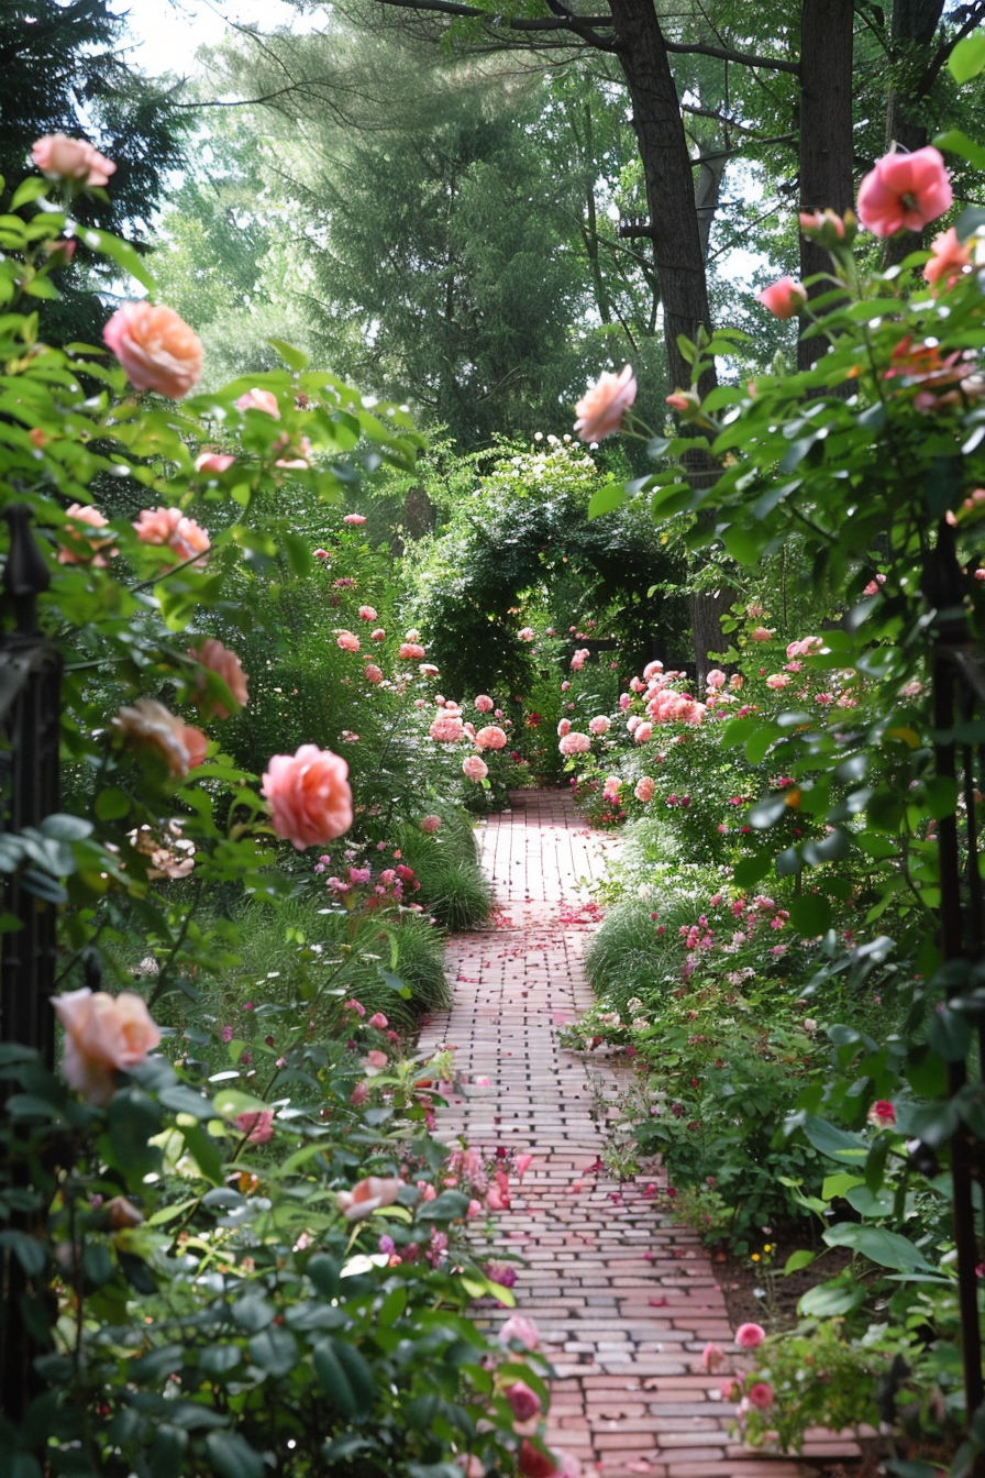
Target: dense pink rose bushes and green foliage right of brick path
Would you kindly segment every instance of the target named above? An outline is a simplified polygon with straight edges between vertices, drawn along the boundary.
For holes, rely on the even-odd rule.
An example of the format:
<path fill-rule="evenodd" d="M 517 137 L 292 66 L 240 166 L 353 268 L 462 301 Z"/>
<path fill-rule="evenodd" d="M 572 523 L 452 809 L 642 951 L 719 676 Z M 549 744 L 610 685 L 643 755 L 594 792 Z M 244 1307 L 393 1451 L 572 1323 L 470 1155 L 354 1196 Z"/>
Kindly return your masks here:
<path fill-rule="evenodd" d="M 976 41 L 957 53 L 955 75 L 981 62 Z M 954 134 L 942 143 L 966 157 L 973 148 Z M 951 201 L 936 149 L 893 152 L 862 182 L 858 214 L 871 241 L 917 231 Z M 908 1478 L 945 1463 L 978 1472 L 985 1450 L 981 1193 L 978 1171 L 970 1181 L 966 1171 L 985 1129 L 981 946 L 973 927 L 960 933 L 981 894 L 970 693 L 985 503 L 982 217 L 951 219 L 929 254 L 862 270 L 854 214 L 803 214 L 831 269 L 808 284 L 817 299 L 784 279 L 762 300 L 777 316 L 800 313 L 806 337 L 821 340 L 814 368 L 704 398 L 675 392 L 684 432 L 650 446 L 665 467 L 613 495 L 647 497 L 691 548 L 721 539 L 740 566 L 796 534 L 827 619 L 803 636 L 762 606 L 747 610 L 758 624 L 746 646 L 719 655 L 707 692 L 651 668 L 631 684 L 647 706 L 629 718 L 632 740 L 611 743 L 610 720 L 608 752 L 591 735 L 573 746 L 594 783 L 610 770 L 603 785 L 620 806 L 625 795 L 628 808 L 656 803 L 672 817 L 667 856 L 721 862 L 719 885 L 712 893 L 704 872 L 690 918 L 670 897 L 676 958 L 644 946 L 648 980 L 634 953 L 644 921 L 634 928 L 634 905 L 620 902 L 610 941 L 634 941 L 634 984 L 645 989 L 626 998 L 603 931 L 595 958 L 616 980 L 604 980 L 611 999 L 579 1029 L 582 1045 L 613 1041 L 642 1058 L 639 1142 L 660 1144 L 678 1196 L 679 1168 L 696 1224 L 747 1233 L 743 1206 L 762 1181 L 766 1208 L 787 1197 L 815 1219 L 817 1246 L 805 1239 L 789 1267 L 824 1249 L 852 1253 L 800 1299 L 796 1333 L 737 1332 L 749 1352 L 727 1382 L 737 1422 L 749 1441 L 797 1448 L 814 1422 L 879 1417 L 895 1434 L 889 1471 Z M 684 346 L 694 386 L 728 341 Z M 583 435 L 607 435 L 631 403 L 626 374 L 603 380 L 583 402 Z M 675 463 L 693 464 L 699 448 L 724 464 L 713 488 L 691 486 Z M 786 664 L 752 656 L 777 640 Z M 969 698 L 953 711 L 961 674 Z M 719 1357 L 706 1351 L 709 1370 Z"/>

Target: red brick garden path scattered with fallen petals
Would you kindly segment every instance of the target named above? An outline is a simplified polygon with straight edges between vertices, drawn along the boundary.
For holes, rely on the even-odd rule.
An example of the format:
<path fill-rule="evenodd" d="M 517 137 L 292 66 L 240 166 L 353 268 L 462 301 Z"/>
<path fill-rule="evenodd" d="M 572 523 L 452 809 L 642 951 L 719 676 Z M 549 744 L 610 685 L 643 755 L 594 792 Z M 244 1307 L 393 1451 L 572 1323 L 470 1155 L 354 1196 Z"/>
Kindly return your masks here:
<path fill-rule="evenodd" d="M 450 941 L 455 1004 L 421 1046 L 453 1043 L 468 1080 L 440 1113 L 440 1138 L 533 1154 L 495 1230 L 521 1259 L 517 1311 L 536 1320 L 557 1370 L 548 1443 L 604 1478 L 806 1478 L 818 1460 L 854 1457 L 854 1443 L 826 1434 L 805 1447 L 814 1462 L 735 1444 L 721 1376 L 700 1361 L 709 1339 L 734 1348 L 707 1255 L 647 1194 L 654 1176 L 619 1184 L 595 1168 L 604 1134 L 592 1110 L 617 1073 L 561 1049 L 555 1029 L 592 1001 L 583 884 L 616 844 L 588 832 L 557 791 L 517 792 L 480 835 L 496 927 Z"/>

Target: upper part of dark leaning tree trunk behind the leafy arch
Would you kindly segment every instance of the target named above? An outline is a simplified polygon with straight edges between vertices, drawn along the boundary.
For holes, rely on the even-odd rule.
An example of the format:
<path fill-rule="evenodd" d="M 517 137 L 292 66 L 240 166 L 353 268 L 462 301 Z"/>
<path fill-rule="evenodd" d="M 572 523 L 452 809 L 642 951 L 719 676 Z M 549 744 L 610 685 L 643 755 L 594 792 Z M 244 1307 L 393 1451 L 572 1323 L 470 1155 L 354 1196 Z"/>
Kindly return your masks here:
<path fill-rule="evenodd" d="M 688 386 L 690 365 L 678 349 L 678 336 L 696 340 L 701 327 L 710 328 L 710 312 L 678 89 L 653 0 L 611 0 L 611 13 L 647 182 L 670 386 Z M 701 395 L 713 384 L 713 372 L 706 374 Z"/>

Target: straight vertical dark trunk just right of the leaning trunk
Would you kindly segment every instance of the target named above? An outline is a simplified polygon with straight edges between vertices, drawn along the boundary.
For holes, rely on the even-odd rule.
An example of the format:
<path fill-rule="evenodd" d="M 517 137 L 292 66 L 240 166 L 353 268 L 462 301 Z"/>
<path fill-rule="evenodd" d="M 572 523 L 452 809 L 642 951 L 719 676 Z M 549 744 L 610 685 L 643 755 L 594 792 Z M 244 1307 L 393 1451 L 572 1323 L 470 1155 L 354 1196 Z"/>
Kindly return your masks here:
<path fill-rule="evenodd" d="M 800 4 L 800 210 L 843 214 L 854 200 L 852 168 L 852 0 Z M 800 236 L 800 276 L 830 269 L 824 247 Z M 830 284 L 808 288 L 811 297 Z M 800 340 L 797 370 L 824 353 L 824 338 Z"/>

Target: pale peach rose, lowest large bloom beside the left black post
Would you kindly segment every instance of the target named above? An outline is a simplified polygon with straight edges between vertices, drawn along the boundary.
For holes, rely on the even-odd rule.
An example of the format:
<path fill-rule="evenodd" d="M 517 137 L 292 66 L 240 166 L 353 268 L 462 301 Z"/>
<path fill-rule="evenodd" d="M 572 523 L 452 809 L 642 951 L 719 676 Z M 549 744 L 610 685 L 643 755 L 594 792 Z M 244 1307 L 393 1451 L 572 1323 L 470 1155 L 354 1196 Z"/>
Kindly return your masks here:
<path fill-rule="evenodd" d="M 131 990 L 111 996 L 86 986 L 53 996 L 52 1005 L 65 1029 L 65 1082 L 93 1104 L 109 1103 L 114 1072 L 139 1067 L 161 1041 L 143 998 Z"/>

